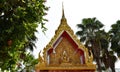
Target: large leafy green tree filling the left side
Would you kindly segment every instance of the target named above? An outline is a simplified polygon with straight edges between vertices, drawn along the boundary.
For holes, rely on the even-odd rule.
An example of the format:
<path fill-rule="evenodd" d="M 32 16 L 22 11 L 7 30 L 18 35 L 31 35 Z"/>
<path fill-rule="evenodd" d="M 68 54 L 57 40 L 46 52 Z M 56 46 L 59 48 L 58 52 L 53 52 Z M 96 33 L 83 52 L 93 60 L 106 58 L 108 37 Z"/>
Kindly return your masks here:
<path fill-rule="evenodd" d="M 48 7 L 45 0 L 0 0 L 0 67 L 15 70 L 19 60 L 24 61 L 27 50 L 33 51 L 41 25 L 46 30 L 44 16 Z"/>

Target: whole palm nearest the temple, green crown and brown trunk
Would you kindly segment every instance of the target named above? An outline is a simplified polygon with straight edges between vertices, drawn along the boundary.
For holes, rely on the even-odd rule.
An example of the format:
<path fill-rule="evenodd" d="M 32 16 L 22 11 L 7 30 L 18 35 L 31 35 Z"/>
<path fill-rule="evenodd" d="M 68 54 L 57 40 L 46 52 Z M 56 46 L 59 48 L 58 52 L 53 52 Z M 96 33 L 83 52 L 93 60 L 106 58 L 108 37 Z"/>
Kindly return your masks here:
<path fill-rule="evenodd" d="M 96 18 L 86 18 L 82 20 L 82 24 L 77 25 L 80 30 L 76 33 L 80 36 L 80 41 L 85 43 L 88 50 L 92 51 L 94 60 L 98 65 L 98 71 L 101 72 L 101 60 L 100 60 L 100 36 L 96 36 L 96 33 L 101 31 L 103 24 Z"/>

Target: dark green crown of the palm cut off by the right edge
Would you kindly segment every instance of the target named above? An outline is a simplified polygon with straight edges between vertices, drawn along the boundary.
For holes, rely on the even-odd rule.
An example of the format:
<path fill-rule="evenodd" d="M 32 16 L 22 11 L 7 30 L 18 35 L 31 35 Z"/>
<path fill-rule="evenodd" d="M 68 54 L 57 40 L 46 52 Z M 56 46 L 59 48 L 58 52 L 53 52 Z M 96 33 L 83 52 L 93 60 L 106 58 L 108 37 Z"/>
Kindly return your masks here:
<path fill-rule="evenodd" d="M 111 49 L 120 57 L 120 20 L 111 25 L 109 33 L 111 36 Z"/>

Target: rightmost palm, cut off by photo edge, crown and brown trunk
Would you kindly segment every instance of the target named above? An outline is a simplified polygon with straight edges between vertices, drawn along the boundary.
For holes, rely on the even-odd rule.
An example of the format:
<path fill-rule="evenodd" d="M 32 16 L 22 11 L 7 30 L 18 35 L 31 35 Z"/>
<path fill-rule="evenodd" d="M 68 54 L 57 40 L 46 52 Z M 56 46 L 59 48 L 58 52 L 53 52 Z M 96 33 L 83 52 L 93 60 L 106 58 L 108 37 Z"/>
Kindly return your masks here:
<path fill-rule="evenodd" d="M 110 49 L 112 49 L 117 56 L 120 57 L 120 20 L 118 20 L 115 24 L 111 26 L 111 30 L 109 31 L 109 42 L 111 44 Z M 112 72 L 115 72 L 115 62 L 117 61 L 117 57 L 113 52 L 109 53 L 110 60 L 108 61 L 110 64 L 110 68 Z"/>

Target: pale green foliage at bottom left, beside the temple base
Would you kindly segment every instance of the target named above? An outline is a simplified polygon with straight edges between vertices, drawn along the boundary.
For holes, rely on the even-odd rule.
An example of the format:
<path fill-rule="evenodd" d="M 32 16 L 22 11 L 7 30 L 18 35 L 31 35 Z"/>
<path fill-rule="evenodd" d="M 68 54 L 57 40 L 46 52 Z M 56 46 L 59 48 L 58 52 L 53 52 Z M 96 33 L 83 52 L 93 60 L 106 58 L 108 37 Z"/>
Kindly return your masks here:
<path fill-rule="evenodd" d="M 38 63 L 38 60 L 34 59 L 34 56 L 30 53 L 27 53 L 24 61 L 21 61 L 17 63 L 17 68 L 14 71 L 31 72 L 35 70 L 35 64 Z"/>

